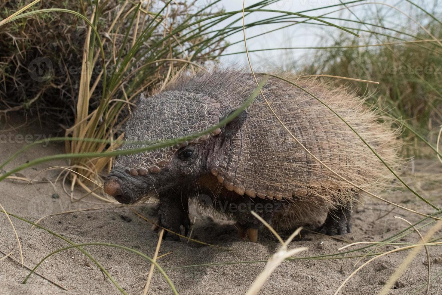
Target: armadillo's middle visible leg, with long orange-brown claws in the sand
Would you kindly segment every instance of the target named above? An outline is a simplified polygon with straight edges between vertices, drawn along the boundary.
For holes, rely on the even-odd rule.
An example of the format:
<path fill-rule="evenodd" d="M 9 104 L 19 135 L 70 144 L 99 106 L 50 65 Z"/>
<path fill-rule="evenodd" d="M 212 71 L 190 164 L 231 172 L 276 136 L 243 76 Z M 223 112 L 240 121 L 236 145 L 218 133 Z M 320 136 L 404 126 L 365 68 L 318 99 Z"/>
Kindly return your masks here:
<path fill-rule="evenodd" d="M 275 208 L 279 207 L 274 202 L 266 199 L 251 200 L 238 198 L 237 202 L 232 203 L 236 205 L 233 207 L 231 205 L 230 208 L 231 211 L 234 211 L 233 213 L 237 220 L 236 228 L 238 229 L 238 235 L 241 239 L 246 240 L 248 238 L 252 242 L 258 241 L 258 230 L 263 228 L 263 223 L 255 218 L 251 211 L 254 211 L 267 223 L 271 224 Z"/>

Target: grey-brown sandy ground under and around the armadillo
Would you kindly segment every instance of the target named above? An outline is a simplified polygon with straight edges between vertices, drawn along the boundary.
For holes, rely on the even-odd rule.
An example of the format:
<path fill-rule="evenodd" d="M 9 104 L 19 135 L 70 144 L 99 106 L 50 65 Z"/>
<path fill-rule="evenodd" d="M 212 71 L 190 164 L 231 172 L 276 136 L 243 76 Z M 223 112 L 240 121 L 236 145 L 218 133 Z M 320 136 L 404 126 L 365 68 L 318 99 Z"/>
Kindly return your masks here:
<path fill-rule="evenodd" d="M 44 134 L 38 128 L 21 128 L 0 134 L 10 134 L 12 140 L 1 142 L 0 161 L 3 161 L 23 146 L 17 134 Z M 28 150 L 6 166 L 6 170 L 23 164 L 35 157 L 52 155 L 61 152 L 61 145 L 50 144 Z M 26 169 L 19 176 L 33 177 L 38 171 L 54 166 L 66 165 L 65 161 L 43 163 Z M 414 171 L 408 169 L 406 179 L 413 184 L 419 193 L 423 193 L 438 206 L 442 206 L 440 190 L 440 173 L 442 165 L 437 161 L 415 161 Z M 59 171 L 43 172 L 38 180 L 54 180 Z M 0 202 L 11 213 L 35 222 L 42 216 L 69 210 L 101 208 L 94 211 L 81 211 L 44 218 L 40 225 L 69 238 L 76 243 L 107 242 L 136 249 L 152 257 L 155 252 L 158 236 L 150 229 L 151 225 L 138 217 L 127 207 L 114 208 L 101 203 L 95 198 L 86 198 L 84 202 L 71 203 L 69 195 L 63 191 L 60 181 L 55 186 L 49 183 L 34 183 L 25 187 L 20 180 L 5 180 L 0 183 Z M 54 199 L 57 193 L 60 197 Z M 78 190 L 75 197 L 83 195 Z M 431 212 L 417 198 L 408 192 L 381 194 L 384 198 L 405 204 L 414 210 Z M 132 207 L 147 218 L 153 218 L 154 205 Z M 302 238 L 293 241 L 290 248 L 308 247 L 298 257 L 317 256 L 337 253 L 338 248 L 353 241 L 381 241 L 406 227 L 404 222 L 393 218 L 394 215 L 418 221 L 417 215 L 397 209 L 385 203 L 375 203 L 366 198 L 366 205 L 354 214 L 353 233 L 339 236 L 338 239 L 304 232 Z M 34 267 L 45 255 L 53 250 L 69 245 L 60 238 L 54 237 L 40 229 L 30 230 L 30 225 L 17 218 L 12 218 L 23 247 L 24 264 Z M 193 219 L 193 218 L 192 218 Z M 424 229 L 423 232 L 427 231 Z M 287 237 L 290 233 L 284 233 Z M 440 236 L 441 232 L 436 234 Z M 199 216 L 193 227 L 192 238 L 217 246 L 232 249 L 225 251 L 194 242 L 163 241 L 159 264 L 164 269 L 187 265 L 221 263 L 213 266 L 196 266 L 169 269 L 167 274 L 179 294 L 244 294 L 255 277 L 263 270 L 264 263 L 222 264 L 240 261 L 266 260 L 278 249 L 278 242 L 267 231 L 261 231 L 259 243 L 241 241 L 232 222 L 214 220 Z M 400 240 L 401 242 L 419 241 L 415 233 Z M 104 268 L 108 269 L 114 279 L 129 294 L 142 294 L 142 287 L 149 272 L 149 262 L 121 249 L 104 246 L 87 246 L 89 253 Z M 393 246 L 383 249 L 391 250 Z M 10 253 L 19 260 L 19 251 L 15 235 L 5 215 L 0 216 L 0 250 Z M 442 253 L 439 247 L 431 247 L 431 260 Z M 367 250 L 349 255 L 361 255 Z M 408 252 L 400 252 L 381 257 L 362 269 L 342 289 L 340 294 L 377 294 L 389 276 L 401 264 Z M 0 254 L 3 257 L 3 254 Z M 396 282 L 389 294 L 412 294 L 426 282 L 427 265 L 425 253 L 420 251 L 406 272 Z M 295 260 L 286 261 L 278 267 L 259 294 L 333 294 L 339 285 L 354 271 L 358 258 L 333 260 Z M 117 288 L 104 279 L 102 272 L 93 262 L 77 249 L 69 249 L 46 259 L 38 272 L 68 291 L 51 284 L 40 276 L 32 275 L 27 284 L 21 284 L 28 274 L 26 268 L 10 258 L 0 261 L 0 294 L 119 294 Z M 442 263 L 432 264 L 432 275 L 442 272 Z M 442 294 L 442 276 L 431 284 L 430 294 Z M 160 275 L 155 272 L 149 294 L 171 294 L 171 289 Z M 422 289 L 418 294 L 425 294 Z"/>

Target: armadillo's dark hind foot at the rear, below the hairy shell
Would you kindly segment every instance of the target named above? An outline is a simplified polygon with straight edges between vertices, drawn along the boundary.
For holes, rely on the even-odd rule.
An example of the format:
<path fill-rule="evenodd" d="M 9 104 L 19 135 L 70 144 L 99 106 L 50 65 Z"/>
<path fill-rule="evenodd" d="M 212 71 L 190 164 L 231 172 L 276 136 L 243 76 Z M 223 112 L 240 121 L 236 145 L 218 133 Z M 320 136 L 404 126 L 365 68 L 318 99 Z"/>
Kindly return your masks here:
<path fill-rule="evenodd" d="M 351 204 L 347 203 L 330 210 L 324 224 L 317 231 L 329 236 L 351 233 Z"/>

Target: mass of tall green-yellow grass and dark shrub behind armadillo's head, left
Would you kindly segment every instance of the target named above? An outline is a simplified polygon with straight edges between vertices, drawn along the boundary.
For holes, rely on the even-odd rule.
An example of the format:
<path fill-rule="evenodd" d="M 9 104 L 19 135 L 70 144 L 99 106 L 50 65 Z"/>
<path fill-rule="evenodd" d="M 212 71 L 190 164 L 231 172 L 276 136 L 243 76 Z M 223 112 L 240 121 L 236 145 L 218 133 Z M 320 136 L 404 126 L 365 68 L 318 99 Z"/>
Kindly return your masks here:
<path fill-rule="evenodd" d="M 140 92 L 154 93 L 176 72 L 200 67 L 225 47 L 222 36 L 210 39 L 198 24 L 220 12 L 213 4 L 171 2 L 34 1 L 25 13 L 38 14 L 7 23 L 0 33 L 4 113 L 24 110 L 58 121 L 66 137 L 104 140 L 68 140 L 66 153 L 115 149 Z M 2 18 L 25 4 L 2 3 Z M 39 76 L 43 71 L 49 76 Z M 108 163 L 76 158 L 70 166 L 91 177 Z"/>

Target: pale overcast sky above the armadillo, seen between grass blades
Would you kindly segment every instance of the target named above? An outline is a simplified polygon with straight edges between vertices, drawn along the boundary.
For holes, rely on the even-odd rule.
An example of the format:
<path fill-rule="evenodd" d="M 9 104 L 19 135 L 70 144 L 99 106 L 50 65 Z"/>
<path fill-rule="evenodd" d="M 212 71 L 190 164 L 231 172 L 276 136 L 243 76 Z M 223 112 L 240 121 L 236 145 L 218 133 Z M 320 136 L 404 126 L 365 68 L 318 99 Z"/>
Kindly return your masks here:
<path fill-rule="evenodd" d="M 209 1 L 209 0 L 202 0 Z M 344 0 L 343 0 L 344 1 Z M 347 0 L 350 1 L 350 0 Z M 413 0 L 419 5 L 423 5 L 425 8 L 431 11 L 436 11 L 442 13 L 442 0 Z M 246 7 L 253 3 L 258 2 L 258 0 L 246 0 Z M 375 1 L 370 1 L 375 2 Z M 400 8 L 407 14 L 414 15 L 418 12 L 418 9 L 411 6 L 405 0 L 380 0 L 376 2 L 383 2 L 392 6 Z M 274 9 L 281 11 L 291 11 L 291 12 L 301 12 L 307 11 L 313 8 L 320 8 L 334 4 L 340 4 L 340 0 L 279 0 L 274 4 L 269 5 L 266 9 Z M 242 0 L 222 0 L 222 6 L 226 11 L 237 11 L 242 10 L 243 1 Z M 331 11 L 336 11 L 328 16 L 331 17 L 344 17 L 347 19 L 356 19 L 357 15 L 360 19 L 370 19 L 375 17 L 376 11 L 383 10 L 382 16 L 385 17 L 384 25 L 387 27 L 399 26 L 400 23 L 408 21 L 408 19 L 402 15 L 400 12 L 392 9 L 386 5 L 357 5 L 349 4 L 348 9 L 342 9 L 341 11 L 336 11 L 343 6 L 338 8 L 327 8 L 316 11 L 308 11 L 305 14 L 310 16 L 323 15 Z M 434 5 L 436 5 L 434 7 Z M 354 15 L 353 15 L 354 14 Z M 252 23 L 259 19 L 268 18 L 275 14 L 273 12 L 253 12 L 248 15 L 245 19 L 246 23 Z M 240 16 L 240 15 L 238 15 Z M 439 15 L 440 16 L 440 15 Z M 343 25 L 344 23 L 339 20 L 330 20 L 331 23 Z M 231 20 L 229 20 L 231 21 Z M 374 21 L 374 20 L 373 20 Z M 221 24 L 220 26 L 225 25 Z M 238 23 L 242 25 L 242 22 Z M 271 25 L 260 25 L 252 27 L 246 30 L 247 38 L 254 36 L 256 34 L 264 33 L 266 31 L 274 30 L 278 27 L 285 26 L 286 23 L 277 23 Z M 355 27 L 354 24 L 352 24 Z M 309 24 L 299 24 L 288 28 L 281 29 L 279 31 L 274 31 L 263 36 L 252 38 L 248 40 L 248 50 L 257 50 L 264 48 L 278 48 L 278 47 L 309 47 L 309 46 L 326 46 L 332 42 L 334 37 L 337 37 L 340 30 L 332 27 L 324 27 Z M 236 42 L 243 40 L 242 32 L 232 35 L 228 38 L 229 42 Z M 236 45 L 231 46 L 226 53 L 240 52 L 244 51 L 244 41 Z M 308 50 L 295 49 L 295 50 L 271 50 L 263 51 L 258 53 L 251 53 L 251 61 L 254 65 L 281 65 L 290 63 L 290 61 L 299 61 Z M 222 58 L 223 63 L 236 63 L 239 65 L 244 65 L 247 63 L 245 54 L 229 55 Z"/>

